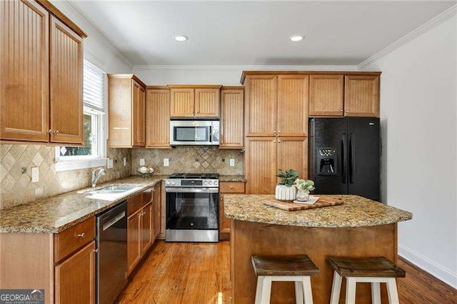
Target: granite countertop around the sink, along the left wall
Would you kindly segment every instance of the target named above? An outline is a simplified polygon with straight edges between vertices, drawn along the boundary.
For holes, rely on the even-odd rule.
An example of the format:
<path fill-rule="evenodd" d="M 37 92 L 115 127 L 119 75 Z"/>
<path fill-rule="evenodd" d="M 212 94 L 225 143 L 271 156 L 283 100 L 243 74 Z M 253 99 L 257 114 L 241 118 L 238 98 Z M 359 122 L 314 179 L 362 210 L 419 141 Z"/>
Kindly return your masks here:
<path fill-rule="evenodd" d="M 86 198 L 89 194 L 81 193 L 81 191 L 90 191 L 91 188 L 84 188 L 0 210 L 0 233 L 59 233 L 154 186 L 164 178 L 166 176 L 151 176 L 150 178 L 129 176 L 96 187 L 96 189 L 119 185 L 137 187 L 136 191 L 119 197 L 115 201 Z"/>

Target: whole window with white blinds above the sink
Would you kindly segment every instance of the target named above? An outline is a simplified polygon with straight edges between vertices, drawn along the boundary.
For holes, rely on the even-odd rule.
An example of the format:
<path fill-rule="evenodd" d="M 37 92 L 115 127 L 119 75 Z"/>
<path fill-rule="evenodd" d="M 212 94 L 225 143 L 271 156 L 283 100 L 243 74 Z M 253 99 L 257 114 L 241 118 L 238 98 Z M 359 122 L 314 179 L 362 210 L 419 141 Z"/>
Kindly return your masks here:
<path fill-rule="evenodd" d="M 101 69 L 84 60 L 84 146 L 56 148 L 56 171 L 106 165 L 105 78 Z"/>

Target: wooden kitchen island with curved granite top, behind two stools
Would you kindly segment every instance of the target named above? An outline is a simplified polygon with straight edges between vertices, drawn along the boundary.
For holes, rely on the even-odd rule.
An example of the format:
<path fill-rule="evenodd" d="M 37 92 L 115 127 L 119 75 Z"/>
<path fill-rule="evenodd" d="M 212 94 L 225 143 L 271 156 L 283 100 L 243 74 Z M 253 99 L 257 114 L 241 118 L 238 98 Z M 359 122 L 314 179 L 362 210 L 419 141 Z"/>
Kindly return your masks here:
<path fill-rule="evenodd" d="M 384 256 L 397 261 L 397 223 L 412 214 L 361 196 L 331 196 L 341 206 L 304 211 L 283 211 L 263 205 L 269 195 L 226 195 L 225 216 L 231 218 L 232 303 L 253 303 L 256 275 L 251 255 L 306 254 L 320 269 L 311 277 L 314 303 L 330 300 L 333 270 L 329 255 Z M 345 282 L 341 298 L 345 296 Z M 383 301 L 387 299 L 381 287 Z M 369 283 L 358 283 L 356 303 L 371 303 Z M 273 282 L 271 303 L 295 303 L 293 283 Z M 342 302 L 343 303 L 343 302 Z"/>

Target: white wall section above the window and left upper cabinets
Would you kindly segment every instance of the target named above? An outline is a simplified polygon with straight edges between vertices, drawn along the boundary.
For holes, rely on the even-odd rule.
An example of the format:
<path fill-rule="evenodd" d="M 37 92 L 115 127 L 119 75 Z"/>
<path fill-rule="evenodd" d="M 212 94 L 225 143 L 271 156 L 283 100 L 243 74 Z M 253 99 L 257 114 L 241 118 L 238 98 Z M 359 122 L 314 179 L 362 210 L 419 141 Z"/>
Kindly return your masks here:
<path fill-rule="evenodd" d="M 108 74 L 131 73 L 133 64 L 124 59 L 111 42 L 79 14 L 68 1 L 51 0 L 51 3 L 89 35 L 87 39 L 84 39 L 85 59 Z"/>

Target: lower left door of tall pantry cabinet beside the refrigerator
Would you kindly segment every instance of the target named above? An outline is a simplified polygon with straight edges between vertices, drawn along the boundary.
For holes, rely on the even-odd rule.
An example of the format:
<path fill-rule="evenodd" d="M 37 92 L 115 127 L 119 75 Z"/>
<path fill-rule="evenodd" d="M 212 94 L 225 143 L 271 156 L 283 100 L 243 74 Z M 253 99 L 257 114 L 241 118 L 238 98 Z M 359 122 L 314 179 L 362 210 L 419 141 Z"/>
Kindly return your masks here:
<path fill-rule="evenodd" d="M 272 194 L 276 187 L 276 137 L 246 137 L 246 194 Z"/>

